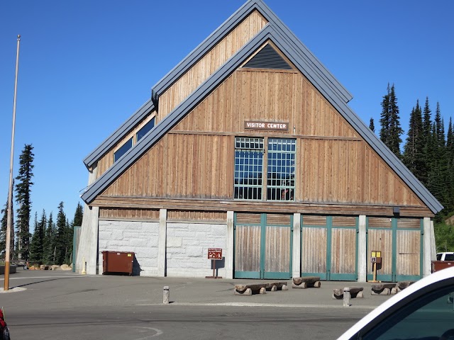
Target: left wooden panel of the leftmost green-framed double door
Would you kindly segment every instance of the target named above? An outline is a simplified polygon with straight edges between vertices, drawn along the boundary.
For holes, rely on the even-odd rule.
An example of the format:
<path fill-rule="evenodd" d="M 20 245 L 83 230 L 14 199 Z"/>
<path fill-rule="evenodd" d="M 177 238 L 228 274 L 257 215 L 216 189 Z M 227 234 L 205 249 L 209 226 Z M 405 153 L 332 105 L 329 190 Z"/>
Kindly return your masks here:
<path fill-rule="evenodd" d="M 260 271 L 259 226 L 236 226 L 235 271 Z"/>

